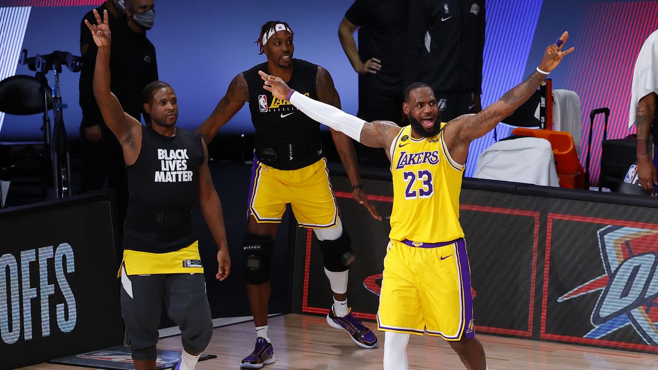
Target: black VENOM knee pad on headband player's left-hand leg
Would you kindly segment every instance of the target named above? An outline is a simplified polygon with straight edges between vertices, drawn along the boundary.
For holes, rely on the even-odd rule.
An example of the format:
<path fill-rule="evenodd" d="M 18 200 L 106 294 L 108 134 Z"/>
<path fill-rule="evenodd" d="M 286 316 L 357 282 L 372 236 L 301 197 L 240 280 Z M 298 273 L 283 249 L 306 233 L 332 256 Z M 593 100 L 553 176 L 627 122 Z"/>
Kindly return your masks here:
<path fill-rule="evenodd" d="M 274 239 L 269 235 L 245 234 L 244 275 L 247 284 L 263 284 L 270 280 Z"/>

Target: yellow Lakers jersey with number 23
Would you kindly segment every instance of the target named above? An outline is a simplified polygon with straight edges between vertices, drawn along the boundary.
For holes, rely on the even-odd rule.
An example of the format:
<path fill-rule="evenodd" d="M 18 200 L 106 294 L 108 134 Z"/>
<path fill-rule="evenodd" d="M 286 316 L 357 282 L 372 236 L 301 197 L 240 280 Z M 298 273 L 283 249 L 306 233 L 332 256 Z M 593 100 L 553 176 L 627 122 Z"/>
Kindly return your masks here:
<path fill-rule="evenodd" d="M 424 243 L 463 238 L 459 225 L 463 171 L 464 166 L 448 153 L 443 130 L 432 138 L 414 139 L 411 126 L 402 128 L 391 147 L 390 238 Z"/>

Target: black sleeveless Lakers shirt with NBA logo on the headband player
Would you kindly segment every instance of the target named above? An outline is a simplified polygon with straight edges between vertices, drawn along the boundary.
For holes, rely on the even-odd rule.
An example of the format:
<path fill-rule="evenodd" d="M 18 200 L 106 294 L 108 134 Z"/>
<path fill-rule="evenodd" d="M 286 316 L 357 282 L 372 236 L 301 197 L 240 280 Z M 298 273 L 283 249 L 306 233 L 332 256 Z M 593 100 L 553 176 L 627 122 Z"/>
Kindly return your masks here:
<path fill-rule="evenodd" d="M 291 89 L 318 99 L 315 79 L 318 66 L 293 59 Z M 290 104 L 263 89 L 258 71 L 269 73 L 267 63 L 242 73 L 249 88 L 249 111 L 256 129 L 256 158 L 275 169 L 293 170 L 312 165 L 322 158 L 320 124 Z"/>

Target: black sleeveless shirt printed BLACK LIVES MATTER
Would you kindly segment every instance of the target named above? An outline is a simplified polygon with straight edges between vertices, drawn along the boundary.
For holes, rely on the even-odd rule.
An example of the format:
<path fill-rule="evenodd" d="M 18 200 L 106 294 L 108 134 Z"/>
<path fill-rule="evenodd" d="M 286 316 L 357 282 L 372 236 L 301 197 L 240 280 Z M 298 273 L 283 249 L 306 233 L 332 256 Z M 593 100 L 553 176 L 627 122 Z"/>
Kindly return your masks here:
<path fill-rule="evenodd" d="M 199 199 L 201 136 L 176 128 L 172 137 L 149 126 L 141 129 L 141 151 L 128 172 L 124 248 L 166 253 L 197 240 L 191 211 Z"/>

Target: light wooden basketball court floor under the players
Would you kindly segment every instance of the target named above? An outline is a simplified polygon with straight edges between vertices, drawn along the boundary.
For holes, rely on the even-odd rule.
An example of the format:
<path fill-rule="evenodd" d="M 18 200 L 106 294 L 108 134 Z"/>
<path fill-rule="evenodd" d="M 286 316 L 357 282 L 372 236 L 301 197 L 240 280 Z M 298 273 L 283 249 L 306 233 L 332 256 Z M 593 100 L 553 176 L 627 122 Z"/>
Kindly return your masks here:
<path fill-rule="evenodd" d="M 369 322 L 371 329 L 375 323 Z M 377 332 L 380 344 L 373 350 L 359 348 L 345 332 L 329 327 L 321 316 L 290 314 L 270 317 L 269 335 L 274 344 L 276 363 L 265 370 L 382 369 L 384 334 Z M 163 330 L 166 334 L 166 330 Z M 576 346 L 504 338 L 478 334 L 487 355 L 490 370 L 653 370 L 658 369 L 658 356 L 595 347 Z M 205 351 L 215 359 L 201 361 L 197 370 L 239 369 L 240 361 L 253 350 L 253 322 L 218 327 Z M 182 350 L 180 336 L 162 338 L 158 348 Z M 448 344 L 429 336 L 411 336 L 410 369 L 465 369 Z M 80 367 L 43 363 L 23 369 L 80 370 Z"/>

